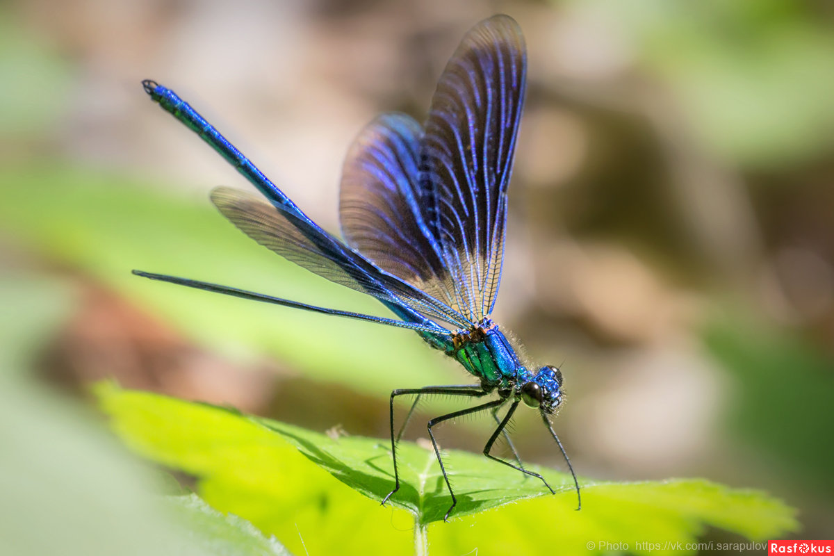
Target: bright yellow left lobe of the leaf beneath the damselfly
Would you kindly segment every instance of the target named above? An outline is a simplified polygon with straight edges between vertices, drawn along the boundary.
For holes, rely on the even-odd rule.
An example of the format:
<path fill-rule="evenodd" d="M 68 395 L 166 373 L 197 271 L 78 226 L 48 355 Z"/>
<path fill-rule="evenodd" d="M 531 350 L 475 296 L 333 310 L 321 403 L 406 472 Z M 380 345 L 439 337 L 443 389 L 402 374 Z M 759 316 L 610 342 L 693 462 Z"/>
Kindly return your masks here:
<path fill-rule="evenodd" d="M 407 513 L 370 502 L 259 423 L 110 383 L 96 393 L 131 448 L 197 476 L 199 493 L 214 508 L 249 519 L 294 553 L 410 552 Z M 314 443 L 328 439 L 309 435 Z"/>

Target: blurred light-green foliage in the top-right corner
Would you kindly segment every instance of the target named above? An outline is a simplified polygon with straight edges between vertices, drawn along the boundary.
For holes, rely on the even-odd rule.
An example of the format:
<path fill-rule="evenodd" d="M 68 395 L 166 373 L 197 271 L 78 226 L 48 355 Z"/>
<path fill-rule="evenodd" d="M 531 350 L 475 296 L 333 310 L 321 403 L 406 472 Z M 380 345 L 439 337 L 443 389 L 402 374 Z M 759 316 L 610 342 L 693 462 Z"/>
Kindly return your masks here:
<path fill-rule="evenodd" d="M 831 153 L 834 33 L 813 3 L 577 4 L 593 5 L 631 35 L 641 62 L 670 85 L 711 151 L 751 168 Z"/>

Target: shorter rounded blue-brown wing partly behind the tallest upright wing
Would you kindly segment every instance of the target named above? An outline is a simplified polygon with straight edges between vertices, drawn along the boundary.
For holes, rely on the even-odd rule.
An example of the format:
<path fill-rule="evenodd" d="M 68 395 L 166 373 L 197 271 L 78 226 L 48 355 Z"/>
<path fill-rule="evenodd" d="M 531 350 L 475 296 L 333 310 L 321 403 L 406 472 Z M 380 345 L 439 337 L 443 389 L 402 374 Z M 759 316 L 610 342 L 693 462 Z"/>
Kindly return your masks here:
<path fill-rule="evenodd" d="M 396 113 L 359 133 L 344 161 L 339 220 L 350 247 L 451 306 L 451 277 L 418 204 L 422 136 L 419 123 Z"/>

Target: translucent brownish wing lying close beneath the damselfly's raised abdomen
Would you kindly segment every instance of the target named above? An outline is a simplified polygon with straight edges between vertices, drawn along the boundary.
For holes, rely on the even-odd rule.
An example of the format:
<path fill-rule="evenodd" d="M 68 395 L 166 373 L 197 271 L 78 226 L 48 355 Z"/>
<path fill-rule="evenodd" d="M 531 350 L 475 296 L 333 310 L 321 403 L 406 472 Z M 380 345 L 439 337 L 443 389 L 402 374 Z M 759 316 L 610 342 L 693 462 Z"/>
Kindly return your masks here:
<path fill-rule="evenodd" d="M 373 295 L 400 318 L 426 324 L 431 323 L 425 318 L 428 316 L 459 327 L 465 324 L 444 303 L 384 273 L 294 206 L 283 210 L 233 188 L 215 188 L 211 199 L 226 218 L 256 242 L 331 282 Z"/>

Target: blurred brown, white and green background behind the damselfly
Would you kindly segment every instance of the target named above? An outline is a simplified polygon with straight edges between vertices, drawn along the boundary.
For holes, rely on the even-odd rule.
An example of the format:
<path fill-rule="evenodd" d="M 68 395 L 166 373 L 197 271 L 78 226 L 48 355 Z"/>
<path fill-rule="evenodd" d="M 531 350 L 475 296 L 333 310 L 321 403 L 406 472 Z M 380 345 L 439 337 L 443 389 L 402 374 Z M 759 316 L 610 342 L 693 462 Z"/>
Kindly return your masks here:
<path fill-rule="evenodd" d="M 74 408 L 113 377 L 384 438 L 392 388 L 465 381 L 405 331 L 131 276 L 384 314 L 224 222 L 208 191 L 249 186 L 139 81 L 175 89 L 336 232 L 355 134 L 380 112 L 425 118 L 463 33 L 493 13 L 516 18 L 529 58 L 495 318 L 562 368 L 575 468 L 766 489 L 799 508 L 798 537 L 831 538 L 826 0 L 2 3 L 3 383 Z M 25 433 L 21 412 L 0 427 Z M 537 424 L 517 419 L 522 456 L 560 465 Z M 489 427 L 441 443 L 480 451 Z"/>

